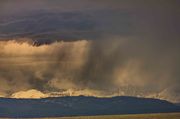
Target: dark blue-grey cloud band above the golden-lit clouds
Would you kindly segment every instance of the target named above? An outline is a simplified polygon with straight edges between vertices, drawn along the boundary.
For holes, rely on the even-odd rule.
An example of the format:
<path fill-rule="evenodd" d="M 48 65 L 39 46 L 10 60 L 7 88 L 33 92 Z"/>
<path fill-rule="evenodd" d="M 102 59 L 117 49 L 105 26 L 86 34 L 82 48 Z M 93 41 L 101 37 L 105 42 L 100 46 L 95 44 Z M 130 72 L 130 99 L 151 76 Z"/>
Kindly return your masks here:
<path fill-rule="evenodd" d="M 28 16 L 8 18 L 0 23 L 0 39 L 29 37 L 40 44 L 57 40 L 95 40 L 113 35 L 127 36 L 134 29 L 131 14 L 119 10 L 86 13 L 37 11 Z"/>

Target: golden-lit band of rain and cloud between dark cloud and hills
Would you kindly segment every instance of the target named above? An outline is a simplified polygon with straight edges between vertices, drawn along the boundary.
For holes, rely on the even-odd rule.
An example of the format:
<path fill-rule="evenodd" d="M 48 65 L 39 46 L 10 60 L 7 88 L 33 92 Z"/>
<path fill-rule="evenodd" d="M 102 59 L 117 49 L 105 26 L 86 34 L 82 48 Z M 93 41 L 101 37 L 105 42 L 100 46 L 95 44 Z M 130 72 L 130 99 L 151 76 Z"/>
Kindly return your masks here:
<path fill-rule="evenodd" d="M 155 40 L 114 38 L 36 46 L 25 38 L 1 41 L 0 94 L 16 98 L 130 95 L 177 102 L 177 43 L 164 40 L 162 46 Z"/>

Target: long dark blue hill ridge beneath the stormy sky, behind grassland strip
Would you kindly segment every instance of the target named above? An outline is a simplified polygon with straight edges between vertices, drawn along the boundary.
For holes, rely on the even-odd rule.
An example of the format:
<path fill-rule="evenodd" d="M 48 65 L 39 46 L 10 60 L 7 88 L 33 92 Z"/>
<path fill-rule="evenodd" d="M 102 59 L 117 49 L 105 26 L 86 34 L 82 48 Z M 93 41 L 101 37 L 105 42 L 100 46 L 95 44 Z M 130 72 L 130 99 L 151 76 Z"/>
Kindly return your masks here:
<path fill-rule="evenodd" d="M 158 99 L 136 97 L 0 98 L 0 117 L 60 117 L 180 112 L 180 106 Z"/>

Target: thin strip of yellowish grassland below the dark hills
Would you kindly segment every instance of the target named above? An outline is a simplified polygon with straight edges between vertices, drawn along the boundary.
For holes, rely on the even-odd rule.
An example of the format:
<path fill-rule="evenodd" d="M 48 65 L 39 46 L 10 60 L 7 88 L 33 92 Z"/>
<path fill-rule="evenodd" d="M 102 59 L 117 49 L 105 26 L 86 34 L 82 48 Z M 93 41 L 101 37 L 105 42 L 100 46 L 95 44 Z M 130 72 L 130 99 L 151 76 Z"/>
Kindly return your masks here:
<path fill-rule="evenodd" d="M 180 119 L 180 113 L 59 117 L 45 119 Z"/>

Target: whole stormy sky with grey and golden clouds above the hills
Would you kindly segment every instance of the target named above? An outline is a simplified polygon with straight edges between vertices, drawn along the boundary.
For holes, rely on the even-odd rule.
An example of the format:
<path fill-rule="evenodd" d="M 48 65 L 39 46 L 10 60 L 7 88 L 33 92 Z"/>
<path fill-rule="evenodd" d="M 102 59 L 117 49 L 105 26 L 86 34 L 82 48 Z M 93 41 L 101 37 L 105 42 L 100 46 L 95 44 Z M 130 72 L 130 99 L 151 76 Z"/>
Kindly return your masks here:
<path fill-rule="evenodd" d="M 1 0 L 0 96 L 180 102 L 178 0 Z"/>

